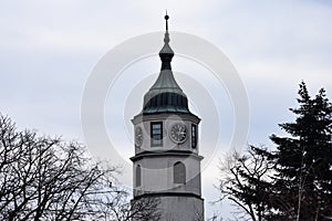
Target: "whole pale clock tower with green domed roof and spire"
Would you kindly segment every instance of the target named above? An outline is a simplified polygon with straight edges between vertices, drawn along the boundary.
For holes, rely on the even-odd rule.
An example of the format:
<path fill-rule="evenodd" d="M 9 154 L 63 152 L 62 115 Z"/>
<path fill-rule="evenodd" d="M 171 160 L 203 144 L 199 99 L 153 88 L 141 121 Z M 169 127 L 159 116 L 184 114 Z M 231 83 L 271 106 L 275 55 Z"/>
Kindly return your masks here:
<path fill-rule="evenodd" d="M 158 198 L 163 221 L 204 220 L 198 129 L 200 118 L 172 72 L 168 19 L 160 73 L 132 122 L 135 133 L 134 199 Z"/>

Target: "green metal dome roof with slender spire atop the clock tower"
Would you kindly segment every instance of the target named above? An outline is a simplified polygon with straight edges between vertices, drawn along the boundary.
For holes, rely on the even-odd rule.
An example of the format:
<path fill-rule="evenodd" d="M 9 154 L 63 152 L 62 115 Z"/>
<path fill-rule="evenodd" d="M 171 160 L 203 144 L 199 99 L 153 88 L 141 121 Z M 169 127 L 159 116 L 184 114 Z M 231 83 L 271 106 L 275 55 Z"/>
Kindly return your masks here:
<path fill-rule="evenodd" d="M 176 83 L 172 72 L 170 62 L 174 56 L 174 52 L 168 44 L 168 15 L 165 17 L 165 44 L 159 52 L 159 56 L 162 60 L 162 70 L 157 81 L 144 95 L 143 114 L 190 113 L 188 108 L 187 96 Z"/>

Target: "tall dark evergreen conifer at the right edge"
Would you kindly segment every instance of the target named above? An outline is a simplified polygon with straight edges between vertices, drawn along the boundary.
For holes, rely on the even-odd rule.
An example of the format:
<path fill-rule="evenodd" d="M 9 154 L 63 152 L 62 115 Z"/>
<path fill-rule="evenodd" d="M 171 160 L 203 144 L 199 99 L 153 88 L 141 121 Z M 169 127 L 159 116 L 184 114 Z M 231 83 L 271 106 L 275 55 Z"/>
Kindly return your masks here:
<path fill-rule="evenodd" d="M 299 95 L 299 107 L 290 108 L 295 122 L 280 124 L 290 136 L 270 137 L 277 145 L 270 219 L 332 219 L 332 106 L 323 88 L 312 98 L 302 82 Z"/>

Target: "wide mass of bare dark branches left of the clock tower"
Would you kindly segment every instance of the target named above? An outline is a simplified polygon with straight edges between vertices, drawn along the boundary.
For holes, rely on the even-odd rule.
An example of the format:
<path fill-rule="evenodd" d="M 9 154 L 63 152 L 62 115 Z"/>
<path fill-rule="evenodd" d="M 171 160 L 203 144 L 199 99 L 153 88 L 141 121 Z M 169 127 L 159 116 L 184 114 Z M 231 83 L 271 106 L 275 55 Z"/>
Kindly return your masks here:
<path fill-rule="evenodd" d="M 158 201 L 131 203 L 117 172 L 83 145 L 18 131 L 0 114 L 0 220 L 156 220 Z"/>

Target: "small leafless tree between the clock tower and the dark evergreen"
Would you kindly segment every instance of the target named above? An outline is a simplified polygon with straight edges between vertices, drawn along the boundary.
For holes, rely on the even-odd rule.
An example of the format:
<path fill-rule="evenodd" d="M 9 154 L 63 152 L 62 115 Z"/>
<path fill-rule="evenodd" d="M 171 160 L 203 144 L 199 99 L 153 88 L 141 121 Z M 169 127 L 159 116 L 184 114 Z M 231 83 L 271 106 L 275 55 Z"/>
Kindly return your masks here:
<path fill-rule="evenodd" d="M 273 171 L 262 149 L 250 146 L 247 154 L 234 152 L 220 164 L 220 200 L 229 199 L 241 220 L 261 221 L 269 208 L 269 176 Z"/>

